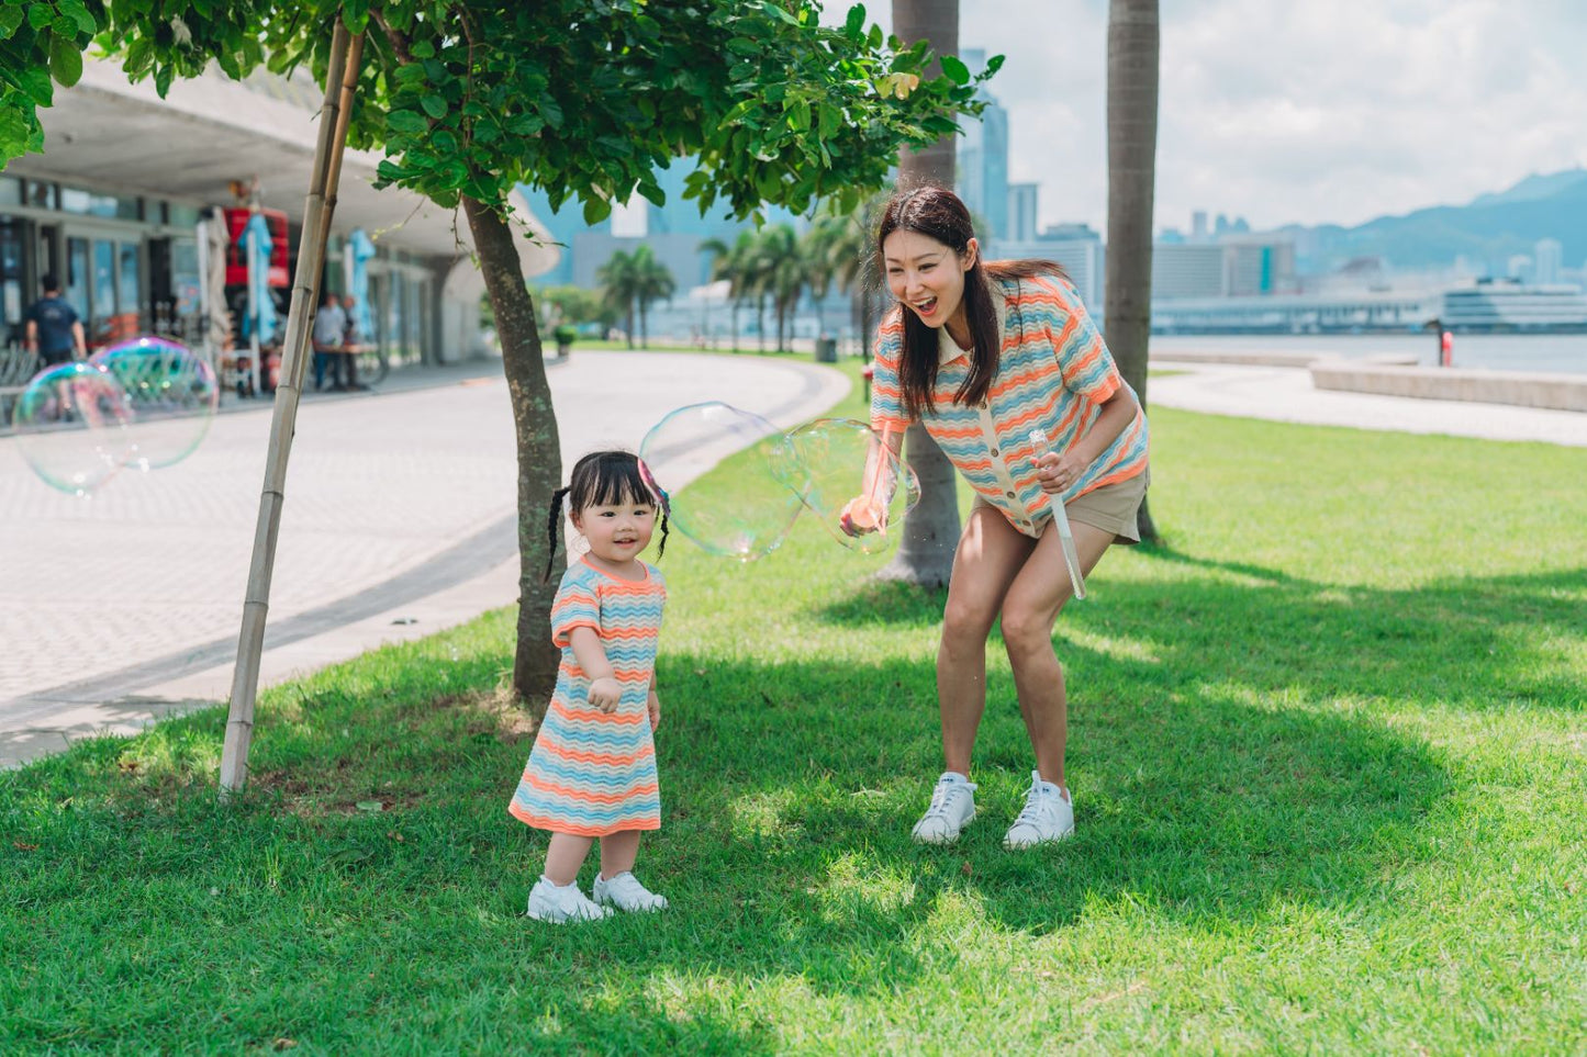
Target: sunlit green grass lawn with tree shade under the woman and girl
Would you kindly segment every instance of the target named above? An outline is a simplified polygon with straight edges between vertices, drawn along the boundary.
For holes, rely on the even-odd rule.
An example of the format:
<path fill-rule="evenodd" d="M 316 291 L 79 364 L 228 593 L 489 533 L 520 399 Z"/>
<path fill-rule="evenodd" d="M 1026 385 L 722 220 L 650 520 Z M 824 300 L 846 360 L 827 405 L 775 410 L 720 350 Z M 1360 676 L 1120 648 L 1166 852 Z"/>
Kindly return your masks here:
<path fill-rule="evenodd" d="M 670 911 L 521 917 L 495 613 L 265 694 L 230 808 L 221 711 L 0 774 L 0 1052 L 1587 1049 L 1587 451 L 1152 427 L 1166 543 L 1057 628 L 1063 846 L 1000 848 L 995 638 L 982 817 L 916 848 L 941 597 L 674 536 Z"/>

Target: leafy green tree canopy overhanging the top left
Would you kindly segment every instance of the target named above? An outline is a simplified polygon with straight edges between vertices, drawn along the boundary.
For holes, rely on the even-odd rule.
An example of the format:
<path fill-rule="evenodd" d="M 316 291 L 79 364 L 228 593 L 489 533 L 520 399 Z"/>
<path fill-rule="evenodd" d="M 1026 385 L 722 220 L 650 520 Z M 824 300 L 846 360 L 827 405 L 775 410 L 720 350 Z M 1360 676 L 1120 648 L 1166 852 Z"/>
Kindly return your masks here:
<path fill-rule="evenodd" d="M 655 170 L 698 159 L 686 198 L 743 219 L 762 203 L 857 205 L 900 143 L 976 114 L 954 57 L 927 79 L 925 44 L 822 25 L 814 0 L 0 0 L 0 162 L 43 149 L 38 108 L 75 84 L 97 41 L 163 95 L 214 62 L 324 78 L 330 29 L 367 33 L 352 146 L 386 154 L 382 184 L 441 205 L 503 206 L 527 183 L 590 222 Z"/>

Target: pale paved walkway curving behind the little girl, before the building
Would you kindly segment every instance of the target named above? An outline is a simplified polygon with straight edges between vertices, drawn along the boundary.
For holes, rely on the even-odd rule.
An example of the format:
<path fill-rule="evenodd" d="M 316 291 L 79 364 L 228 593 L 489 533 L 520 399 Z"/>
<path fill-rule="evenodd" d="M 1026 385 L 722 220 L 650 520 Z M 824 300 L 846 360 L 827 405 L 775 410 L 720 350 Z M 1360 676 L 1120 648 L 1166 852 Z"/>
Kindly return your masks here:
<path fill-rule="evenodd" d="M 795 425 L 849 389 L 832 368 L 752 356 L 574 352 L 548 375 L 565 462 L 633 446 L 686 403 Z M 517 597 L 500 365 L 406 381 L 300 409 L 263 684 Z M 217 416 L 184 462 L 124 473 L 90 500 L 48 489 L 0 440 L 0 767 L 229 695 L 268 406 Z"/>

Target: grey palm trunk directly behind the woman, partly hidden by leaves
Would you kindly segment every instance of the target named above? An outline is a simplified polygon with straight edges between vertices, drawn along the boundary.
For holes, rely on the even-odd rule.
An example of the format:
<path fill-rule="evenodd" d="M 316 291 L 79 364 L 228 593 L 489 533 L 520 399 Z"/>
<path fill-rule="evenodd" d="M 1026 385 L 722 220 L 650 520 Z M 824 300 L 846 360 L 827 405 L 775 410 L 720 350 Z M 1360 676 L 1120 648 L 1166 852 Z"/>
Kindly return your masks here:
<path fill-rule="evenodd" d="M 938 56 L 959 54 L 959 0 L 893 0 L 893 33 L 908 43 L 927 40 Z M 933 62 L 928 76 L 941 63 Z M 922 183 L 954 186 L 954 136 L 943 136 L 924 151 L 898 152 L 898 186 Z M 954 463 L 936 446 L 925 427 L 916 424 L 905 433 L 905 457 L 920 479 L 920 502 L 903 522 L 898 554 L 878 573 L 925 587 L 941 587 L 954 570 L 959 546 L 959 489 Z"/>

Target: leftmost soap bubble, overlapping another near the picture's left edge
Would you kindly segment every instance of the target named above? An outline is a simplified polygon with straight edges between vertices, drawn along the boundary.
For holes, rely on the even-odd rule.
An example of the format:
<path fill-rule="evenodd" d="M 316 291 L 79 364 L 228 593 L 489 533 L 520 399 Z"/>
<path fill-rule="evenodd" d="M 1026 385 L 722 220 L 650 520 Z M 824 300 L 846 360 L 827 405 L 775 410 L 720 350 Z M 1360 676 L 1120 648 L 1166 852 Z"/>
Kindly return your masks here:
<path fill-rule="evenodd" d="M 11 416 L 27 465 L 44 484 L 71 495 L 89 495 L 129 460 L 132 419 L 125 389 L 92 363 L 40 371 Z"/>

